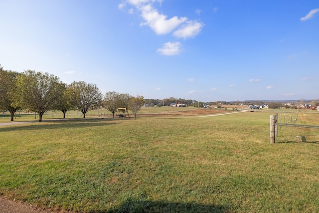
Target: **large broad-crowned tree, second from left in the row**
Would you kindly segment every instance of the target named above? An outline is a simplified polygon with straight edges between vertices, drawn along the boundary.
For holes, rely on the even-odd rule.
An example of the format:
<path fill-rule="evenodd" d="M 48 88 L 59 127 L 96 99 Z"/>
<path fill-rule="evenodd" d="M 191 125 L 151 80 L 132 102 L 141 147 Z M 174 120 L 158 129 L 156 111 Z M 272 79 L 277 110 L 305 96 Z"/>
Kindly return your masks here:
<path fill-rule="evenodd" d="M 55 108 L 61 96 L 59 89 L 60 79 L 49 73 L 24 71 L 17 77 L 19 100 L 22 108 L 39 114 L 39 122 L 42 116 Z"/>

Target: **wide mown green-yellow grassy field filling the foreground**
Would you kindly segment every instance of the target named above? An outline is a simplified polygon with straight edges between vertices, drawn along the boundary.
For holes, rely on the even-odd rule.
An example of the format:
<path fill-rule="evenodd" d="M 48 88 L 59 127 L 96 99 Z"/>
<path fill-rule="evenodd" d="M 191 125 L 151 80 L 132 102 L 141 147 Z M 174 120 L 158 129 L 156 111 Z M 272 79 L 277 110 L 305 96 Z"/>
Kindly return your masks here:
<path fill-rule="evenodd" d="M 0 194 L 85 213 L 319 212 L 319 130 L 270 144 L 271 114 L 0 126 Z"/>

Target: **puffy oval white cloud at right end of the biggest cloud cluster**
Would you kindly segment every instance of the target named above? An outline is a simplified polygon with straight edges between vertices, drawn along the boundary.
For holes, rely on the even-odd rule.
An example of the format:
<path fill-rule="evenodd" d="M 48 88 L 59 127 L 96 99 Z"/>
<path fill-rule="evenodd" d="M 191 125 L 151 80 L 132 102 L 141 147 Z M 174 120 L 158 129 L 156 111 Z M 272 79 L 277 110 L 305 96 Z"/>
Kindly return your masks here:
<path fill-rule="evenodd" d="M 187 37 L 194 37 L 197 35 L 201 29 L 203 28 L 204 24 L 195 21 L 186 21 L 179 29 L 173 32 L 173 36 L 177 38 L 187 38 Z"/>

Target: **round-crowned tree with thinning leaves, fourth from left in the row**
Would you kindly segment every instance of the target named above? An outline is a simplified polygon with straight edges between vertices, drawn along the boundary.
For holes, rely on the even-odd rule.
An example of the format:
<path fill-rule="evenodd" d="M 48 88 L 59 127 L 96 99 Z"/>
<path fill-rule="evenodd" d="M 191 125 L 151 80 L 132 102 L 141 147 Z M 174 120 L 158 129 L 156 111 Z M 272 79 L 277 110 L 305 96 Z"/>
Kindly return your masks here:
<path fill-rule="evenodd" d="M 67 90 L 71 105 L 82 112 L 83 118 L 88 111 L 98 109 L 102 105 L 102 93 L 96 84 L 74 81 Z"/>

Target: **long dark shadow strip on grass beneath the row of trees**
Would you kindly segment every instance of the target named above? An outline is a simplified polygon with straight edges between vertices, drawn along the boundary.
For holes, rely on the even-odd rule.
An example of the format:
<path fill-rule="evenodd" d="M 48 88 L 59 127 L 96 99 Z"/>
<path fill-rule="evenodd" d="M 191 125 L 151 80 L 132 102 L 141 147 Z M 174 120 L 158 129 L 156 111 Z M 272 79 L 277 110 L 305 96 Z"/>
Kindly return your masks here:
<path fill-rule="evenodd" d="M 113 120 L 112 120 L 113 121 Z M 101 127 L 115 122 L 110 122 L 110 119 L 57 119 L 57 120 L 42 120 L 42 122 L 32 121 L 24 124 L 8 125 L 0 128 L 0 132 L 9 131 L 28 131 L 28 130 L 45 130 L 45 129 L 64 129 L 64 128 L 87 128 L 87 127 Z"/>

